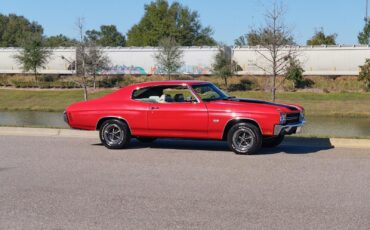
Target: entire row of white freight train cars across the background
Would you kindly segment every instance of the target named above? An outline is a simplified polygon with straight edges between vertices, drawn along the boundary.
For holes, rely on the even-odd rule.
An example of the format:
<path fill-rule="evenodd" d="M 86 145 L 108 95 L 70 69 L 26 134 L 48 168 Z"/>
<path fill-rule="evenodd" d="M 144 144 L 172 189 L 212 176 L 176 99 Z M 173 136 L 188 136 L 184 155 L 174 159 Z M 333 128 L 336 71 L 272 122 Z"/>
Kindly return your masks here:
<path fill-rule="evenodd" d="M 179 73 L 188 75 L 210 75 L 212 64 L 218 52 L 217 47 L 182 47 L 184 65 Z M 257 47 L 235 47 L 232 49 L 233 59 L 242 67 L 240 75 L 269 74 L 259 67 L 268 69 L 269 63 L 259 52 L 266 50 Z M 359 66 L 370 58 L 369 46 L 303 46 L 295 47 L 302 63 L 305 75 L 358 75 Z M 14 56 L 20 52 L 18 48 L 0 48 L 0 73 L 22 73 L 21 66 Z M 100 74 L 161 74 L 154 59 L 158 48 L 124 47 L 103 48 L 104 54 L 110 59 L 110 68 L 100 70 Z M 56 48 L 52 50 L 45 68 L 39 69 L 42 74 L 74 74 L 76 60 L 75 48 Z"/>

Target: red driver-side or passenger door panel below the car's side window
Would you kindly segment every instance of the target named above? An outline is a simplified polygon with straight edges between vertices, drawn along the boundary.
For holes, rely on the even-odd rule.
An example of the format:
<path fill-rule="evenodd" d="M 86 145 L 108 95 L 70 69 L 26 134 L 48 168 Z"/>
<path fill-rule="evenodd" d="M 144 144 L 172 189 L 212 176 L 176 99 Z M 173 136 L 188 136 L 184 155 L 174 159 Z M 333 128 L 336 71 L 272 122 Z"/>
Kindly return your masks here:
<path fill-rule="evenodd" d="M 207 107 L 203 102 L 195 100 L 195 96 L 193 98 L 192 101 L 151 103 L 148 128 L 153 136 L 206 138 Z"/>

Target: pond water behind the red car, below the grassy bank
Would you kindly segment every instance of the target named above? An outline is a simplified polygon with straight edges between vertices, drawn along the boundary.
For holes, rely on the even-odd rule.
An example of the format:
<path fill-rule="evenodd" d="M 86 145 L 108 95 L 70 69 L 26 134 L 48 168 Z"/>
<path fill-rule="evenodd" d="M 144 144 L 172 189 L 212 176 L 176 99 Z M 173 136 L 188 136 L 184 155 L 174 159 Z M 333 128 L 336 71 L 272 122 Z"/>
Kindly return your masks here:
<path fill-rule="evenodd" d="M 335 137 L 370 137 L 370 117 L 306 118 L 303 134 Z M 0 111 L 0 125 L 68 128 L 60 112 Z"/>

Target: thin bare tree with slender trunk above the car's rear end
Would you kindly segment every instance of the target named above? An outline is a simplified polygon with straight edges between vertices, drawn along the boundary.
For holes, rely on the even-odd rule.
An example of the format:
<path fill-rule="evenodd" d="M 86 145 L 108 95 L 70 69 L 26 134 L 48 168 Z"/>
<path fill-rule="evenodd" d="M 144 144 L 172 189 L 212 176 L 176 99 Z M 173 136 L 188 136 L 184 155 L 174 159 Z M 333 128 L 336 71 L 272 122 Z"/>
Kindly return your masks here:
<path fill-rule="evenodd" d="M 88 91 L 87 91 L 87 71 L 86 71 L 86 39 L 85 39 L 85 20 L 84 18 L 78 18 L 76 21 L 76 27 L 78 29 L 79 41 L 77 42 L 77 53 L 76 59 L 77 62 L 80 62 L 80 69 L 77 69 L 81 76 L 81 84 L 84 89 L 84 99 L 88 100 Z"/>

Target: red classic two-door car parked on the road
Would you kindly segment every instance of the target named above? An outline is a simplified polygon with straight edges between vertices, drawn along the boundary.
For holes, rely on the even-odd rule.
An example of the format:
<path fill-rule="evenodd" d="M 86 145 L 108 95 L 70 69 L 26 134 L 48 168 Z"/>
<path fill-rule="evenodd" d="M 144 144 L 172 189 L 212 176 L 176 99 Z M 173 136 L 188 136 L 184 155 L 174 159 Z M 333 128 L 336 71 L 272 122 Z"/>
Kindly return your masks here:
<path fill-rule="evenodd" d="M 235 153 L 253 154 L 296 133 L 304 109 L 230 97 L 204 81 L 161 81 L 72 104 L 64 118 L 71 128 L 99 130 L 109 149 L 124 148 L 131 138 L 192 138 L 225 140 Z"/>

